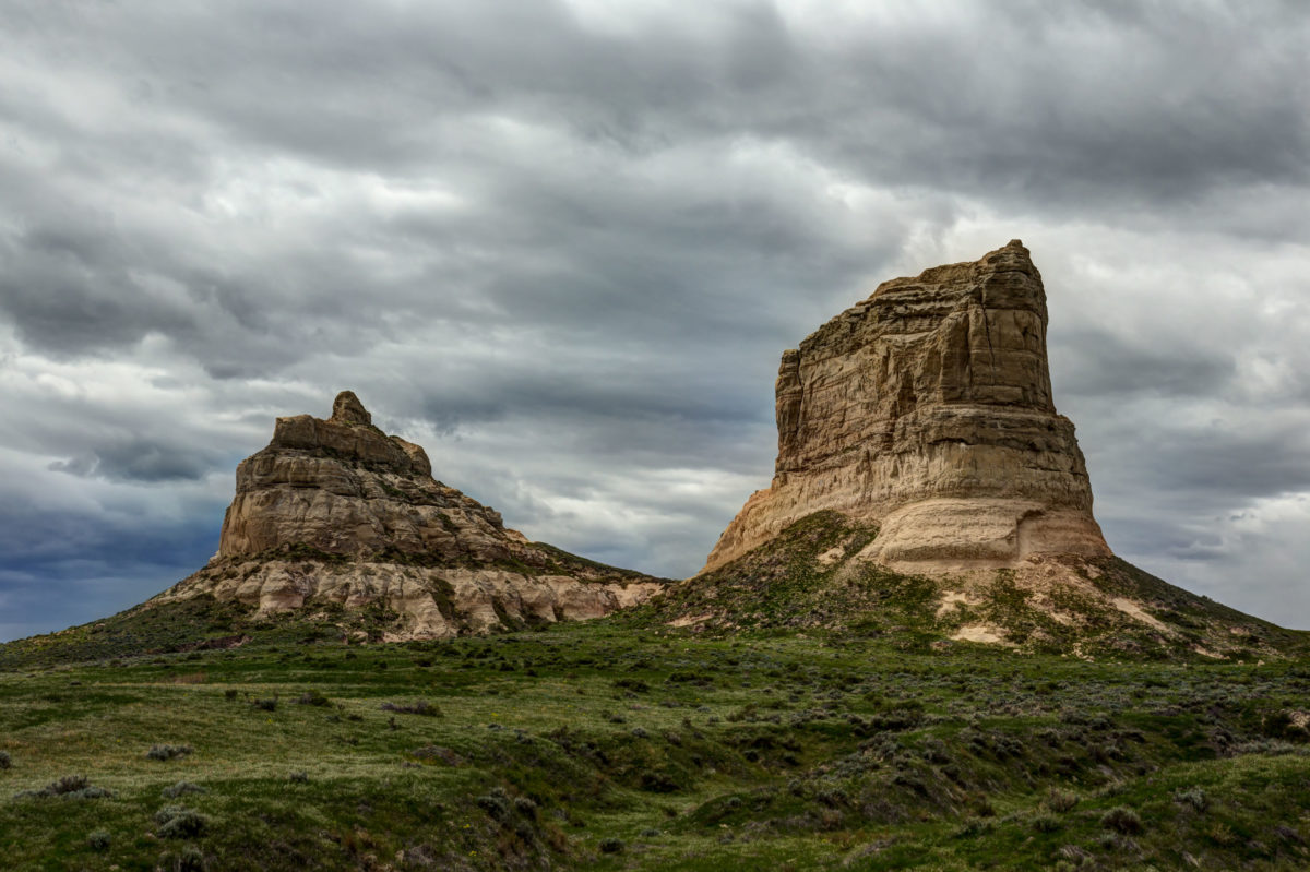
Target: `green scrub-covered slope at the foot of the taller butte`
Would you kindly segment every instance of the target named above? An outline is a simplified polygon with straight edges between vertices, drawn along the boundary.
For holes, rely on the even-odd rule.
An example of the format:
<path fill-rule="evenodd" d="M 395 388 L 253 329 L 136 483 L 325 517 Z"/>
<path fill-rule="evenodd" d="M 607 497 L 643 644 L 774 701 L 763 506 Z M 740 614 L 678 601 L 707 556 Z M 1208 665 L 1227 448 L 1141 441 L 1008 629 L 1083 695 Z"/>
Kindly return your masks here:
<path fill-rule="evenodd" d="M 1310 652 L 1310 634 L 1229 609 L 1119 558 L 1044 558 L 1018 570 L 929 577 L 858 559 L 876 536 L 875 526 L 819 512 L 621 619 L 707 632 L 848 631 L 914 649 L 984 631 L 1026 652 L 1120 660 L 1256 661 Z"/>

